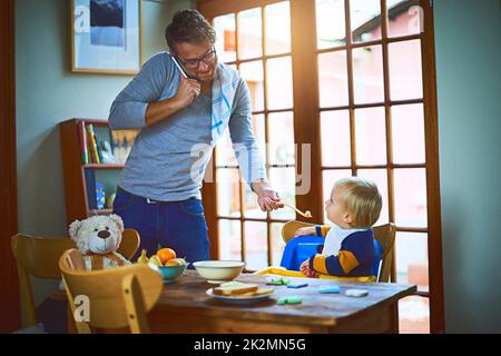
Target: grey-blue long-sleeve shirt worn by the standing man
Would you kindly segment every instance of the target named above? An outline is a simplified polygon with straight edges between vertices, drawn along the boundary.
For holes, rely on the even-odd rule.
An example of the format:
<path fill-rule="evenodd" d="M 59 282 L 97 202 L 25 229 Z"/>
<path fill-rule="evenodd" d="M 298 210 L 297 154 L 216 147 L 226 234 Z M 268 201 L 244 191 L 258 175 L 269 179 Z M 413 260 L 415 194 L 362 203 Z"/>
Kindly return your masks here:
<path fill-rule="evenodd" d="M 218 70 L 223 69 L 228 67 L 218 63 Z M 169 53 L 160 52 L 145 63 L 111 105 L 111 129 L 140 129 L 118 182 L 131 194 L 161 201 L 200 198 L 202 180 L 216 144 L 212 139 L 210 98 L 200 93 L 189 107 L 169 118 L 145 123 L 148 103 L 174 97 L 178 87 L 178 69 Z M 247 182 L 266 178 L 254 139 L 250 95 L 242 78 L 223 129 L 226 126 L 234 149 L 243 148 L 236 156 Z"/>

